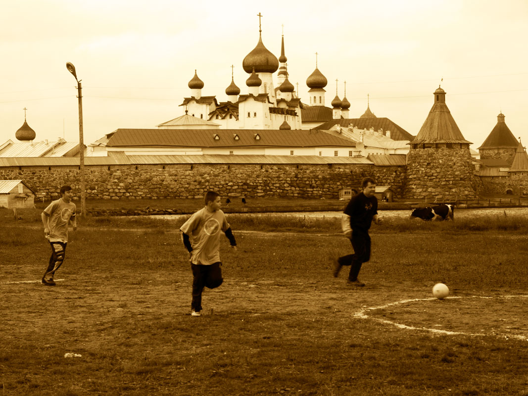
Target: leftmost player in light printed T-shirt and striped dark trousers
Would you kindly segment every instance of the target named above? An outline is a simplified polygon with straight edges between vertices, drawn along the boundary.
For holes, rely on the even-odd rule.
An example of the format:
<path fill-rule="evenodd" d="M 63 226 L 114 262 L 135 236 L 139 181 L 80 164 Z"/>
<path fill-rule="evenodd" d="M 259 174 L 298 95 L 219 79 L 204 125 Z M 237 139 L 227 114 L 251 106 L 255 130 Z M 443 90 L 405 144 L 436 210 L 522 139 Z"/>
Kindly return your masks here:
<path fill-rule="evenodd" d="M 50 262 L 42 277 L 42 283 L 48 286 L 55 286 L 53 276 L 64 261 L 66 244 L 68 243 L 68 224 L 71 223 L 74 231 L 77 229 L 75 218 L 77 206 L 71 202 L 73 196 L 71 187 L 62 186 L 60 193 L 62 197 L 50 203 L 41 214 L 44 234 L 51 245 Z"/>

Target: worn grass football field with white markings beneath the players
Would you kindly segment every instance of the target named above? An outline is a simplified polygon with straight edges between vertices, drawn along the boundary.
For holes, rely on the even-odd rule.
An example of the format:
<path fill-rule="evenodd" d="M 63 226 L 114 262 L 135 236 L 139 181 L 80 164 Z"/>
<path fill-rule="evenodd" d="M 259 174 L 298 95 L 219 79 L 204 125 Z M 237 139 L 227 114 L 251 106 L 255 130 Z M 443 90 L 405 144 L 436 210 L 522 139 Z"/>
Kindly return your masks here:
<path fill-rule="evenodd" d="M 528 395 L 526 219 L 388 219 L 352 289 L 337 221 L 233 217 L 202 317 L 181 221 L 80 221 L 47 287 L 38 219 L 6 219 L 2 396 Z"/>

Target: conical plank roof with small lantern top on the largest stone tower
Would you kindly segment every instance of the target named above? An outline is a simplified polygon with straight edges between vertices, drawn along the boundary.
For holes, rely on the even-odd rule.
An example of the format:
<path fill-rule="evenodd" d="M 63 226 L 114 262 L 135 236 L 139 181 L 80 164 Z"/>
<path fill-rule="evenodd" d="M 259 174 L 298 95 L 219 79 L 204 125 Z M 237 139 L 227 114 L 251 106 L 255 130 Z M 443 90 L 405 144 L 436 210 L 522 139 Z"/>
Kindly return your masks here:
<path fill-rule="evenodd" d="M 435 96 L 435 103 L 432 105 L 431 111 L 423 122 L 418 135 L 410 144 L 423 143 L 468 143 L 464 136 L 458 129 L 451 112 L 446 105 L 446 92 L 438 87 L 433 94 Z"/>

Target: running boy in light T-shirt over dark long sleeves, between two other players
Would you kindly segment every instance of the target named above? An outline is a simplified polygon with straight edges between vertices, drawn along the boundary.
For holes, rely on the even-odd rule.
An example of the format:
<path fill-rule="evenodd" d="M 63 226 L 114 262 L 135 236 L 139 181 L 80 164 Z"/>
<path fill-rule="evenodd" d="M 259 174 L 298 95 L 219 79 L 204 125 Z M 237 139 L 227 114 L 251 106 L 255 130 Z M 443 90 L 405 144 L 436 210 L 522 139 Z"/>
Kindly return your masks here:
<path fill-rule="evenodd" d="M 220 231 L 228 237 L 231 247 L 237 249 L 231 227 L 224 212 L 220 210 L 220 194 L 208 191 L 204 200 L 205 207 L 194 213 L 180 228 L 182 242 L 190 253 L 193 271 L 192 316 L 202 315 L 203 288 L 214 289 L 223 282 L 220 269 Z"/>

